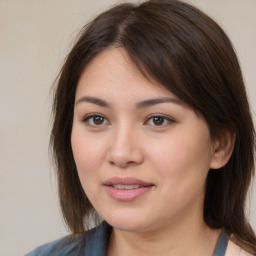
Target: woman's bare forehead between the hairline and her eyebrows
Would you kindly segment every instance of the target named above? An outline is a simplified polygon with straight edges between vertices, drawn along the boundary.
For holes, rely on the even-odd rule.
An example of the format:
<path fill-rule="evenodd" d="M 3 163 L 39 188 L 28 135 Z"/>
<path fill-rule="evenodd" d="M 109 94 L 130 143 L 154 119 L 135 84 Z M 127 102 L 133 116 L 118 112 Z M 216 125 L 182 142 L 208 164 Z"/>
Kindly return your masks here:
<path fill-rule="evenodd" d="M 175 97 L 160 83 L 146 78 L 123 48 L 108 48 L 97 55 L 79 79 L 76 98 L 83 94 L 126 97 Z"/>

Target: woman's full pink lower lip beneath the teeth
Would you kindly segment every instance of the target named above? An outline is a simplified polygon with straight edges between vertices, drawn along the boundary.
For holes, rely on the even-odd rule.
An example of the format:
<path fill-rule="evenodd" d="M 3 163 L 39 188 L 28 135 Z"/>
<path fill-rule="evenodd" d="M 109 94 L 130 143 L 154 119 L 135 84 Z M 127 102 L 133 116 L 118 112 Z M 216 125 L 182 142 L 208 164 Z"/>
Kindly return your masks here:
<path fill-rule="evenodd" d="M 150 191 L 153 186 L 140 187 L 135 189 L 116 189 L 112 186 L 105 186 L 107 193 L 114 199 L 121 202 L 129 202 L 135 200 L 142 194 Z"/>

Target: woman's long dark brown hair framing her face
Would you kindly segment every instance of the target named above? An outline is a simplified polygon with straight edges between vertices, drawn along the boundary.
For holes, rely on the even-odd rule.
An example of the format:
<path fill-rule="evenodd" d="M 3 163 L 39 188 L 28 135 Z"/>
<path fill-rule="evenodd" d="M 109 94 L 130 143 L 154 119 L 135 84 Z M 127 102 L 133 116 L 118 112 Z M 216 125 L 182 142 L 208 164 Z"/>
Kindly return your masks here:
<path fill-rule="evenodd" d="M 197 8 L 177 0 L 120 4 L 81 31 L 60 72 L 53 104 L 51 143 L 59 197 L 72 233 L 87 229 L 95 210 L 80 184 L 71 149 L 75 92 L 80 75 L 97 54 L 122 47 L 138 69 L 201 113 L 212 138 L 232 127 L 236 143 L 229 162 L 209 170 L 204 220 L 233 234 L 256 253 L 256 238 L 245 216 L 254 174 L 255 132 L 240 66 L 224 31 Z"/>

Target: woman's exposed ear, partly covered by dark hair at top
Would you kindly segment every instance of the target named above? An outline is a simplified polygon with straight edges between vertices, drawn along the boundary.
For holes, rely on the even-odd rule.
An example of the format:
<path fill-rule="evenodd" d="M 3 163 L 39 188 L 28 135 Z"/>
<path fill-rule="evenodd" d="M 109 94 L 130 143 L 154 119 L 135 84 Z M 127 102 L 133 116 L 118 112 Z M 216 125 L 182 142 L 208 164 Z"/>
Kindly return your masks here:
<path fill-rule="evenodd" d="M 232 128 L 223 129 L 218 138 L 213 141 L 213 155 L 210 168 L 219 169 L 230 159 L 236 141 L 236 134 Z"/>

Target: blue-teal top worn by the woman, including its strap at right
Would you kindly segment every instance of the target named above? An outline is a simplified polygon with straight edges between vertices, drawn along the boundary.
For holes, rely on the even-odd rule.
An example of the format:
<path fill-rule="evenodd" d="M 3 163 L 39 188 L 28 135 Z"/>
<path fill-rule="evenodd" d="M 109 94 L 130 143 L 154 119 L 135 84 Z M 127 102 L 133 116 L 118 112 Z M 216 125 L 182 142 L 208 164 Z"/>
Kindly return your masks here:
<path fill-rule="evenodd" d="M 105 256 L 112 227 L 103 222 L 76 237 L 65 236 L 44 244 L 25 256 Z M 224 256 L 228 237 L 221 233 L 213 256 Z"/>

